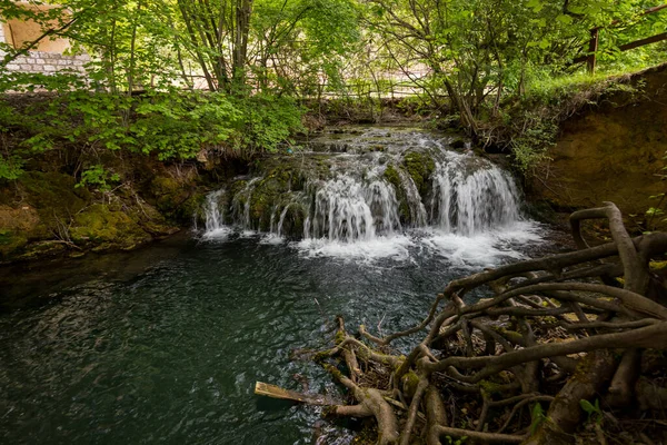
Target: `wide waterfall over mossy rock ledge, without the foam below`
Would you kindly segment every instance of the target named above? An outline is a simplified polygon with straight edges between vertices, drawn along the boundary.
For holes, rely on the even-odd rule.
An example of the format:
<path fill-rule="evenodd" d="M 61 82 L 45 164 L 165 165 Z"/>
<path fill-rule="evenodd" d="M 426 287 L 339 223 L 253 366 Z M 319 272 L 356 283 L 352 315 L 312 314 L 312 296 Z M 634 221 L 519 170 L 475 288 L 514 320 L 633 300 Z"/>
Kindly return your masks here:
<path fill-rule="evenodd" d="M 511 176 L 469 150 L 449 150 L 442 139 L 415 130 L 346 137 L 345 154 L 322 155 L 318 148 L 276 158 L 251 179 L 232 184 L 228 189 L 236 191 L 228 197 L 210 194 L 206 233 L 229 224 L 278 241 L 301 237 L 350 245 L 415 228 L 486 236 L 522 220 Z"/>

